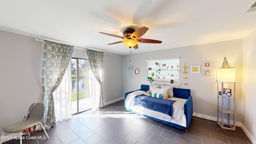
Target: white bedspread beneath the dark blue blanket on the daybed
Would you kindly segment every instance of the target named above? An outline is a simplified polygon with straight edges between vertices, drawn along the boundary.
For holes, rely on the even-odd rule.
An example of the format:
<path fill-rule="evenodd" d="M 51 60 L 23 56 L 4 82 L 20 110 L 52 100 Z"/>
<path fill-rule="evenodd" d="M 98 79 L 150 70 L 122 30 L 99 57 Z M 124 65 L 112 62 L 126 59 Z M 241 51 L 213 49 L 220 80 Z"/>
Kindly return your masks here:
<path fill-rule="evenodd" d="M 156 112 L 154 110 L 149 110 L 147 108 L 143 108 L 141 106 L 134 106 L 134 97 L 140 94 L 145 94 L 146 92 L 142 90 L 137 90 L 135 92 L 131 92 L 127 95 L 125 100 L 125 107 L 133 110 L 134 112 L 138 112 L 140 114 L 145 114 L 147 116 L 151 116 L 157 118 L 159 120 L 164 120 L 166 122 L 172 122 L 174 124 L 178 124 L 180 126 L 186 127 L 186 116 L 184 114 L 184 103 L 186 99 L 182 98 L 169 98 L 169 100 L 176 100 L 173 104 L 173 112 L 172 118 L 168 114 L 164 114 L 162 112 Z"/>

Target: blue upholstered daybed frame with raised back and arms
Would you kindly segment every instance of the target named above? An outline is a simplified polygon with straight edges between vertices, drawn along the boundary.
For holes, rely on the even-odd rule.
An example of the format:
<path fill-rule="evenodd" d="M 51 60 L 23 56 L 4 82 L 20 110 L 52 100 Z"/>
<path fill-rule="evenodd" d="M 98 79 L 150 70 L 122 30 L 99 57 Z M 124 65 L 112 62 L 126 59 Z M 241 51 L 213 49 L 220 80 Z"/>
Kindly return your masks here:
<path fill-rule="evenodd" d="M 149 90 L 149 86 L 142 84 L 139 90 L 143 90 L 143 91 L 146 92 L 146 91 Z M 135 91 L 136 91 L 136 90 L 131 91 L 131 92 L 135 92 Z M 129 108 L 126 108 L 126 107 L 125 107 L 126 96 L 127 96 L 128 94 L 130 94 L 131 92 L 126 92 L 126 93 L 124 94 L 124 109 L 125 109 L 125 110 L 128 110 L 128 111 L 130 111 L 130 112 L 134 112 L 133 110 L 130 110 Z M 168 125 L 173 126 L 173 127 L 175 127 L 175 128 L 179 128 L 179 129 L 181 129 L 181 130 L 187 131 L 187 130 L 188 130 L 188 126 L 189 126 L 189 124 L 190 124 L 190 121 L 191 121 L 191 119 L 192 119 L 192 114 L 193 114 L 193 102 L 192 102 L 192 96 L 190 95 L 190 90 L 189 90 L 189 89 L 182 89 L 182 88 L 173 88 L 173 95 L 174 95 L 174 97 L 176 97 L 176 98 L 187 99 L 187 101 L 186 101 L 185 104 L 184 104 L 184 114 L 186 115 L 186 122 L 187 122 L 187 126 L 186 126 L 186 127 L 180 126 L 180 125 L 178 125 L 178 124 L 174 124 L 174 123 L 172 123 L 172 122 L 166 122 L 166 121 L 164 121 L 164 120 L 159 120 L 159 119 L 157 119 L 157 118 L 154 118 L 154 117 L 151 117 L 151 116 L 147 116 L 147 115 L 145 115 L 145 114 L 140 114 L 140 113 L 138 113 L 138 112 L 134 112 L 134 113 L 140 114 L 140 115 L 145 116 L 145 117 L 147 117 L 147 118 L 151 118 L 151 119 L 156 120 L 156 121 L 158 121 L 158 122 L 162 122 L 162 123 L 164 123 L 164 124 L 168 124 Z"/>

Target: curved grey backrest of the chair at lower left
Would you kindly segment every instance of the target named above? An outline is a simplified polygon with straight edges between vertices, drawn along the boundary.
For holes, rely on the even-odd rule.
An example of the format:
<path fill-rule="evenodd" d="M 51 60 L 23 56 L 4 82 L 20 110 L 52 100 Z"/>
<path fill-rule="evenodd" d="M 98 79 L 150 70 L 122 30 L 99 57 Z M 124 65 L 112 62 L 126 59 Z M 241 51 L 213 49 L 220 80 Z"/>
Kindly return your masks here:
<path fill-rule="evenodd" d="M 33 107 L 34 103 L 31 104 L 29 107 L 28 111 Z M 42 102 L 37 102 L 30 114 L 28 115 L 28 119 L 34 119 L 38 120 L 39 122 L 43 120 L 44 118 L 44 103 Z"/>

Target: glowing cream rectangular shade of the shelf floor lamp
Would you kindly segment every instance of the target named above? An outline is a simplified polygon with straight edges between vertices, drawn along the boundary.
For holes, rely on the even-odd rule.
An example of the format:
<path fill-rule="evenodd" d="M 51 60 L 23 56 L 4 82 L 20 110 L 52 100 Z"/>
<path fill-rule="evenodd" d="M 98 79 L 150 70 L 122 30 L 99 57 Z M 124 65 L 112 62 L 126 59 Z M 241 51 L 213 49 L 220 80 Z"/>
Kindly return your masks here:
<path fill-rule="evenodd" d="M 218 82 L 236 82 L 235 68 L 218 68 L 217 69 Z"/>

